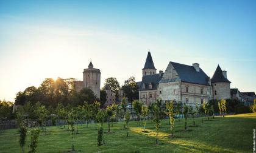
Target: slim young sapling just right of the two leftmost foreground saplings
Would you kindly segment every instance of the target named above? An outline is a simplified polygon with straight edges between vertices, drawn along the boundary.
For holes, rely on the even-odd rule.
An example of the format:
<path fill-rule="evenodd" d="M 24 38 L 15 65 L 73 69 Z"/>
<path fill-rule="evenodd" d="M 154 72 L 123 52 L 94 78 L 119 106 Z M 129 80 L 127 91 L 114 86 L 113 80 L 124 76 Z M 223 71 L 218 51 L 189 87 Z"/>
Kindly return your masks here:
<path fill-rule="evenodd" d="M 46 135 L 46 119 L 48 118 L 49 111 L 45 106 L 40 106 L 39 109 L 36 110 L 38 122 L 43 129 L 44 126 L 44 135 Z"/>

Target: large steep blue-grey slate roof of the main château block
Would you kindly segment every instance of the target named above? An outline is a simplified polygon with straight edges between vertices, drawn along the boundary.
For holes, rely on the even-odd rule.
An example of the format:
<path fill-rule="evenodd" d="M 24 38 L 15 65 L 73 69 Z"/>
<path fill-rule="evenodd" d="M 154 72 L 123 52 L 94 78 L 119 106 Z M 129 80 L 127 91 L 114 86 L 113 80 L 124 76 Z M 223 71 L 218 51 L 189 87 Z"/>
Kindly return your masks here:
<path fill-rule="evenodd" d="M 209 77 L 204 73 L 200 68 L 199 72 L 196 72 L 193 66 L 188 66 L 185 64 L 170 62 L 176 72 L 178 73 L 180 80 L 187 83 L 196 83 L 196 84 L 208 84 Z"/>

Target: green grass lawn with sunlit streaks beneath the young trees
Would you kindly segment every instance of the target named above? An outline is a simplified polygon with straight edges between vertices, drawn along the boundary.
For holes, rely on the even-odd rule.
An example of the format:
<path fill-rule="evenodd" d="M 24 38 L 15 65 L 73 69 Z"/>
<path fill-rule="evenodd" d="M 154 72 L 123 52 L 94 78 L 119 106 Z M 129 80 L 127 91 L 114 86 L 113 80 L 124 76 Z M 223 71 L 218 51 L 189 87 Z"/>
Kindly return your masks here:
<path fill-rule="evenodd" d="M 129 137 L 123 130 L 124 123 L 114 123 L 112 134 L 104 133 L 105 144 L 100 152 L 252 152 L 253 129 L 256 128 L 256 114 L 230 115 L 225 118 L 215 117 L 207 121 L 196 118 L 197 127 L 184 129 L 184 120 L 175 121 L 174 135 L 169 138 L 168 120 L 163 120 L 159 132 L 158 144 L 155 144 L 155 128 L 151 121 L 147 121 L 143 133 L 143 123 L 138 126 L 137 121 L 129 123 Z M 188 119 L 188 126 L 192 124 Z M 67 127 L 67 126 L 66 126 Z M 59 126 L 48 127 L 49 135 L 40 133 L 38 152 L 68 152 L 71 150 L 71 135 Z M 107 132 L 107 123 L 104 123 Z M 94 124 L 79 125 L 79 134 L 74 136 L 74 146 L 77 152 L 97 152 L 98 131 Z M 0 152 L 21 152 L 19 146 L 18 129 L 0 132 Z M 30 143 L 30 133 L 26 146 Z M 29 148 L 26 147 L 26 152 Z"/>

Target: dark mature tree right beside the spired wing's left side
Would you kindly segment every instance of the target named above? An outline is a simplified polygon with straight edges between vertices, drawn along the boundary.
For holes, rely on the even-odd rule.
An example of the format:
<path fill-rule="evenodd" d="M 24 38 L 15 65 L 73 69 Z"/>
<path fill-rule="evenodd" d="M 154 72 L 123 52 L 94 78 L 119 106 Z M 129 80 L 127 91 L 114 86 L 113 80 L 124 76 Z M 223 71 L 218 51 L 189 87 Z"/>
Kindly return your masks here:
<path fill-rule="evenodd" d="M 129 80 L 124 81 L 124 86 L 121 89 L 129 101 L 138 100 L 138 86 L 135 77 L 130 77 Z"/>

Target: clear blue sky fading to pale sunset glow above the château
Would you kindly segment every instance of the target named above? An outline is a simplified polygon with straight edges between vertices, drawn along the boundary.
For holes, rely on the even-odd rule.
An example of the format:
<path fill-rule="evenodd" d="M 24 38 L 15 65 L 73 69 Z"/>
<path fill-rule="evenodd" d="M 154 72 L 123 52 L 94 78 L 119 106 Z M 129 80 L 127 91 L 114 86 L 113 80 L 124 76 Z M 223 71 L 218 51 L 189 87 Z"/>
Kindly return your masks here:
<path fill-rule="evenodd" d="M 140 81 L 148 50 L 158 70 L 199 63 L 231 87 L 256 91 L 256 1 L 0 1 L 0 100 L 45 78 L 76 78 L 92 61 L 122 85 Z"/>

